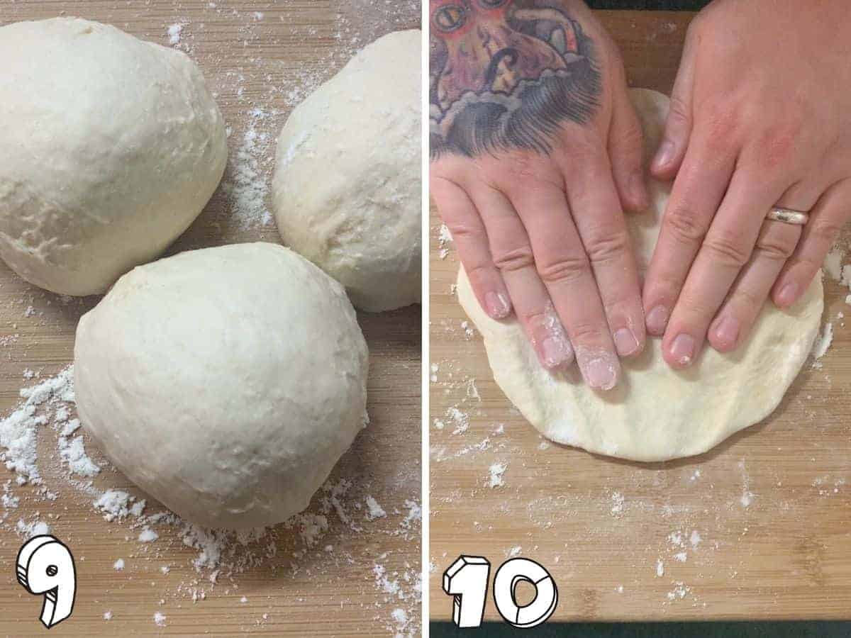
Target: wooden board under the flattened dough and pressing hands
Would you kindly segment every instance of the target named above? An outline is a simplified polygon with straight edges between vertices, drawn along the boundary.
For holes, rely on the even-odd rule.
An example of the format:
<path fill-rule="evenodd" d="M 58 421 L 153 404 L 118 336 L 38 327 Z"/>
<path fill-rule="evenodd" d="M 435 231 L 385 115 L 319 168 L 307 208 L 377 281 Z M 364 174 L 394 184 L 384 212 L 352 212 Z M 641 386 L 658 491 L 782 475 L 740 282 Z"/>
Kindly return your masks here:
<path fill-rule="evenodd" d="M 631 85 L 670 92 L 691 16 L 599 16 Z M 460 554 L 487 557 L 492 577 L 508 555 L 540 562 L 553 621 L 851 615 L 848 288 L 826 282 L 833 345 L 771 418 L 700 457 L 635 464 L 551 444 L 511 407 L 465 329 L 457 270 L 432 214 L 432 619 L 451 618 L 440 577 Z M 492 464 L 502 487 L 488 487 Z M 500 620 L 492 598 L 486 618 Z"/>

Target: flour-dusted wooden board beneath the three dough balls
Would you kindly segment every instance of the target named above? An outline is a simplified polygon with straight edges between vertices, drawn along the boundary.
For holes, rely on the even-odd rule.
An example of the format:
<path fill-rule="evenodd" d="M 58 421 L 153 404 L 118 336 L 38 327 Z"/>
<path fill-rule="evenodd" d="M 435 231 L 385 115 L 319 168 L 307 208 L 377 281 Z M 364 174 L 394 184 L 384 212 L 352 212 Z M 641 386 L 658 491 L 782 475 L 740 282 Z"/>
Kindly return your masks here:
<path fill-rule="evenodd" d="M 223 186 L 169 253 L 231 242 L 279 242 L 274 223 L 262 219 L 267 195 L 263 189 L 273 168 L 274 140 L 288 112 L 357 49 L 388 31 L 420 24 L 420 5 L 409 1 L 0 3 L 0 25 L 60 14 L 108 22 L 135 36 L 182 48 L 197 61 L 216 95 L 230 127 L 230 164 Z M 20 401 L 21 387 L 71 363 L 77 319 L 97 300 L 44 293 L 0 263 L 3 417 Z M 370 350 L 372 424 L 331 479 L 335 485 L 351 481 L 340 498 L 351 525 L 331 509 L 328 532 L 311 548 L 297 530 L 277 527 L 271 537 L 249 547 L 255 564 L 231 575 L 223 566 L 214 584 L 211 570 L 197 572 L 192 567 L 199 552 L 183 544 L 177 528 L 154 527 L 160 538 L 140 544 L 139 528 L 131 528 L 128 521 L 107 522 L 95 512 L 94 498 L 71 485 L 55 458 L 56 434 L 45 429 L 40 464 L 49 489 L 59 498 L 49 501 L 37 498 L 29 487 L 14 488 L 18 508 L 0 506 L 0 517 L 5 516 L 0 524 L 0 635 L 46 633 L 37 620 L 41 601 L 15 581 L 15 556 L 23 538 L 10 528 L 19 520 L 47 522 L 77 559 L 73 615 L 51 635 L 418 634 L 416 507 L 414 516 L 406 518 L 412 504 L 420 504 L 420 307 L 358 318 Z M 26 370 L 39 373 L 40 379 L 24 379 Z M 87 451 L 103 463 L 94 444 L 89 442 Z M 10 478 L 0 466 L 0 489 Z M 106 467 L 94 487 L 128 488 L 140 495 Z M 323 496 L 328 494 L 317 496 L 309 511 L 323 510 Z M 385 517 L 366 520 L 367 496 L 386 510 Z M 149 499 L 146 514 L 158 510 L 162 508 Z M 122 571 L 113 567 L 117 559 L 125 562 Z M 162 567 L 168 567 L 168 573 Z M 196 597 L 203 592 L 204 598 L 193 601 L 193 591 Z M 397 609 L 407 622 L 399 612 L 393 617 Z M 166 617 L 164 627 L 155 624 L 155 612 Z"/>

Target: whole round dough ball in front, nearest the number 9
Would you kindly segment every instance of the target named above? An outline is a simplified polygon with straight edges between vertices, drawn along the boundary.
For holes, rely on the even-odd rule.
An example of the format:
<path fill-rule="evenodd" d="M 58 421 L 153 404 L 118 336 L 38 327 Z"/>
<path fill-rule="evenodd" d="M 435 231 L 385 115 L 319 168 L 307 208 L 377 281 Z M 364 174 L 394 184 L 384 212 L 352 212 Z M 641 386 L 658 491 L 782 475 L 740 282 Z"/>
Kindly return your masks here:
<path fill-rule="evenodd" d="M 270 243 L 121 277 L 77 326 L 83 426 L 131 481 L 208 527 L 304 510 L 366 419 L 367 346 L 339 283 Z"/>

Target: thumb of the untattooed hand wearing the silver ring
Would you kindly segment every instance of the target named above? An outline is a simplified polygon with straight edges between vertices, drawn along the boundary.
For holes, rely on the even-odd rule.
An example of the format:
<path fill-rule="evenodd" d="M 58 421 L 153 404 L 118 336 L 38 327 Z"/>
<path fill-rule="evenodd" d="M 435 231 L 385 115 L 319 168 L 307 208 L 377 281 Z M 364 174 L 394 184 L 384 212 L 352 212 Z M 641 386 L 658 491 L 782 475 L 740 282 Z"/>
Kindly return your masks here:
<path fill-rule="evenodd" d="M 671 108 L 665 120 L 665 133 L 650 172 L 659 179 L 674 179 L 688 148 L 688 137 L 692 129 L 692 95 L 694 89 L 694 43 L 687 37 L 683 48 L 683 59 L 677 71 L 674 89 L 671 91 Z"/>

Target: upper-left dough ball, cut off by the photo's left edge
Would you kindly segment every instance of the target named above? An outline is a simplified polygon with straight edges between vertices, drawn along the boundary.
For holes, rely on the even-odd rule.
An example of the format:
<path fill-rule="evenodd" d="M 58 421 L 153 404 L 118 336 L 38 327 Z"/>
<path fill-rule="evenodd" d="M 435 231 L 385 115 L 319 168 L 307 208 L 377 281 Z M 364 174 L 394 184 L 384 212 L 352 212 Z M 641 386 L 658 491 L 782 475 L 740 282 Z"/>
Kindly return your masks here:
<path fill-rule="evenodd" d="M 213 195 L 219 109 L 185 54 L 97 22 L 0 27 L 0 60 L 0 257 L 54 293 L 103 293 Z"/>

